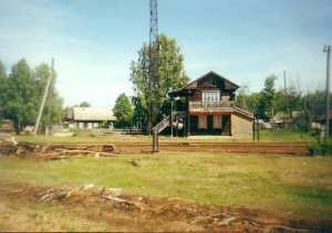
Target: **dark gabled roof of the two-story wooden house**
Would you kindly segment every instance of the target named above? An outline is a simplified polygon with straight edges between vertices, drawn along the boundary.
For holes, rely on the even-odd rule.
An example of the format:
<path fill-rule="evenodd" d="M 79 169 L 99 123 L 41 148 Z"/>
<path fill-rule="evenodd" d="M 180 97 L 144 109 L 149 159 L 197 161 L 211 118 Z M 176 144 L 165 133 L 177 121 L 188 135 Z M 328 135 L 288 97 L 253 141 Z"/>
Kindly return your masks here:
<path fill-rule="evenodd" d="M 191 83 L 189 83 L 188 85 L 181 87 L 181 88 L 178 88 L 178 89 L 172 89 L 168 92 L 168 94 L 173 95 L 173 94 L 179 94 L 180 92 L 184 92 L 184 91 L 190 91 L 190 89 L 196 89 L 197 88 L 197 83 L 204 78 L 207 78 L 209 76 L 215 76 L 221 81 L 225 82 L 225 86 L 228 86 L 227 88 L 228 89 L 237 89 L 239 88 L 240 86 L 232 83 L 231 81 L 227 80 L 226 77 L 221 76 L 220 74 L 217 74 L 216 72 L 214 71 L 210 71 L 208 73 L 206 73 L 205 75 L 198 77 L 197 80 L 193 81 Z"/>

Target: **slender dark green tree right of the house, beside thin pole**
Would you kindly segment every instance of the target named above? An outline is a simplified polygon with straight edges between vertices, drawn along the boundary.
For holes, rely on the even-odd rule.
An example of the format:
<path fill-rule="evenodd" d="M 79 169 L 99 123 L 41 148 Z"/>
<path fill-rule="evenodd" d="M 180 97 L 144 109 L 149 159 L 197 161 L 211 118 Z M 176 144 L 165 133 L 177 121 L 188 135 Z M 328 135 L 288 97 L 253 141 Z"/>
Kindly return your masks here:
<path fill-rule="evenodd" d="M 264 80 L 264 88 L 260 93 L 260 98 L 256 108 L 256 114 L 263 120 L 269 120 L 272 117 L 273 100 L 274 100 L 274 82 L 277 76 L 271 74 Z"/>

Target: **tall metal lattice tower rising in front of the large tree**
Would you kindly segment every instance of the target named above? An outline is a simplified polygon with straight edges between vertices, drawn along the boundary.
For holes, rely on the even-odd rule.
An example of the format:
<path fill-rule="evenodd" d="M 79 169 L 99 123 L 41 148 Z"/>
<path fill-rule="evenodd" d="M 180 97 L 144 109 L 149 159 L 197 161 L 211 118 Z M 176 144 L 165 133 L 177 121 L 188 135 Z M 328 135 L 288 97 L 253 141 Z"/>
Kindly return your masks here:
<path fill-rule="evenodd" d="M 149 77 L 148 77 L 148 134 L 152 131 L 152 124 L 156 118 L 156 108 L 158 108 L 157 88 L 158 88 L 158 1 L 149 1 Z"/>

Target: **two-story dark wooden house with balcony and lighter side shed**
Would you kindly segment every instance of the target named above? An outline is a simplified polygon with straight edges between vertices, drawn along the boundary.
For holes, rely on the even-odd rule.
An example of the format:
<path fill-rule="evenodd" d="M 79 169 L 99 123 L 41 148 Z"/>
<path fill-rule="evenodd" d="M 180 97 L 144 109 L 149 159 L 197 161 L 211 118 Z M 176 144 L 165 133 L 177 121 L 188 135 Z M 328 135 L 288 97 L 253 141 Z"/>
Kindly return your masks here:
<path fill-rule="evenodd" d="M 237 107 L 237 84 L 209 72 L 168 95 L 187 99 L 188 136 L 252 137 L 253 115 Z"/>

